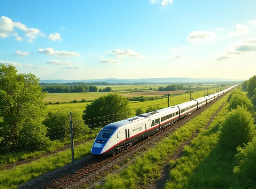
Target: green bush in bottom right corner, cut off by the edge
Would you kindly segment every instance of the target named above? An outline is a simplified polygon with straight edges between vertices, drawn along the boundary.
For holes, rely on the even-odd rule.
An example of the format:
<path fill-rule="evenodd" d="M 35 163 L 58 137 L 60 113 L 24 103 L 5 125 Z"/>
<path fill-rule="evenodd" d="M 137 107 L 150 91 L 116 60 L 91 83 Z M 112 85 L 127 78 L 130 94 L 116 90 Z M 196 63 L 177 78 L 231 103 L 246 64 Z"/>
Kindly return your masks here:
<path fill-rule="evenodd" d="M 234 172 L 244 183 L 245 188 L 256 185 L 256 136 L 244 148 L 238 147 L 236 154 L 237 166 Z M 248 185 L 248 186 L 247 186 Z"/>

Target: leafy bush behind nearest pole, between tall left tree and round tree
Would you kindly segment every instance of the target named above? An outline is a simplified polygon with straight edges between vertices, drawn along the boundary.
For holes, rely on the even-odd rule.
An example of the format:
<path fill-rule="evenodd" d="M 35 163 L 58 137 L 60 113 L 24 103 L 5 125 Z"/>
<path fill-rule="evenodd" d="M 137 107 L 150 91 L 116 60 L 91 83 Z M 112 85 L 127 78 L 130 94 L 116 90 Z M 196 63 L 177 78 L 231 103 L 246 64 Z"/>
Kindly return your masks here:
<path fill-rule="evenodd" d="M 81 116 L 77 111 L 72 111 L 73 122 L 81 121 Z M 45 117 L 43 124 L 48 128 L 48 136 L 51 139 L 64 140 L 70 137 L 70 121 L 69 121 L 69 111 L 58 110 L 56 112 L 48 112 Z M 84 125 L 83 122 L 76 122 L 73 124 L 73 134 L 74 138 L 84 135 L 89 132 L 88 126 Z"/>

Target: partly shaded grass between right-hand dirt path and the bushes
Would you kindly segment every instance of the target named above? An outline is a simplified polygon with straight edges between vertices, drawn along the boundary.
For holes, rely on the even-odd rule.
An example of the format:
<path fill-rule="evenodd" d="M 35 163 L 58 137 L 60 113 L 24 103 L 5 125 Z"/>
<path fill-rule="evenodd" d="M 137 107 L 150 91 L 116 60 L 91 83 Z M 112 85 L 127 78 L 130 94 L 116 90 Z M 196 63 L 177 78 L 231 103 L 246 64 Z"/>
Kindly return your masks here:
<path fill-rule="evenodd" d="M 184 147 L 183 156 L 174 163 L 165 188 L 227 188 L 234 180 L 234 154 L 218 143 L 218 126 L 227 113 L 223 108 L 208 129 Z"/>

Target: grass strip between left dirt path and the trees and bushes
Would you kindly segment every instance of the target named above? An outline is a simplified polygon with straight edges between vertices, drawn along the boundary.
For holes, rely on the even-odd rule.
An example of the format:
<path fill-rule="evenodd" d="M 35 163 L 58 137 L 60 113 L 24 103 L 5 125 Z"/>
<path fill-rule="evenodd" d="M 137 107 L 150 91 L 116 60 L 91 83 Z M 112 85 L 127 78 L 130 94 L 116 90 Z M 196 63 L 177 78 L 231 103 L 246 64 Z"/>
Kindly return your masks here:
<path fill-rule="evenodd" d="M 74 139 L 74 142 L 80 142 L 80 141 L 84 141 L 84 140 L 88 140 L 88 139 L 94 139 L 97 134 L 100 132 L 101 128 L 95 128 L 93 130 L 91 130 L 91 132 L 89 134 L 86 134 L 84 136 L 81 136 L 79 138 Z M 64 145 L 66 144 L 70 144 L 70 139 L 65 139 L 63 142 L 60 142 L 59 140 L 53 140 L 51 141 L 51 146 L 47 147 L 47 149 L 44 150 L 37 150 L 37 151 L 20 151 L 20 152 L 16 152 L 14 154 L 10 153 L 10 154 L 6 154 L 3 156 L 0 156 L 0 165 L 1 164 L 8 164 L 8 163 L 15 163 L 17 161 L 23 161 L 26 159 L 31 159 L 31 158 L 35 158 L 38 157 L 40 155 L 43 155 L 45 153 L 51 153 L 54 152 L 62 147 L 64 147 Z"/>

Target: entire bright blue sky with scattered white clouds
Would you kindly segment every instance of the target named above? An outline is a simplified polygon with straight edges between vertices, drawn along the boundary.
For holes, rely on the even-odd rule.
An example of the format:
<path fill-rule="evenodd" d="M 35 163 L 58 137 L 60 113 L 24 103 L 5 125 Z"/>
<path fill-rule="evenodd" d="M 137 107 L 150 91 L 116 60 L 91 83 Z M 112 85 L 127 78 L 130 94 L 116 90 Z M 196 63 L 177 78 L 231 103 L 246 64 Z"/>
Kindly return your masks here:
<path fill-rule="evenodd" d="M 40 79 L 256 74 L 255 0 L 0 3 L 0 64 Z"/>

